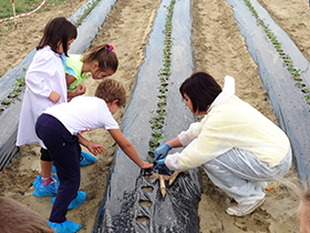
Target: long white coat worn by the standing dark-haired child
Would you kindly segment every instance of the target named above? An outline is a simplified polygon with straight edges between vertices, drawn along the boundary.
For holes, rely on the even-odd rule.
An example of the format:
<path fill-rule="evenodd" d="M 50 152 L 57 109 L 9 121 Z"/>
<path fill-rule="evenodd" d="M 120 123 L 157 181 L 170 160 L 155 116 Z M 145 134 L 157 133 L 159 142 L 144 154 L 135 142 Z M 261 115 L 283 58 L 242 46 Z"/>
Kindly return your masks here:
<path fill-rule="evenodd" d="M 52 91 L 60 94 L 60 101 L 68 102 L 66 81 L 60 54 L 49 45 L 37 51 L 25 74 L 25 93 L 22 102 L 17 145 L 39 143 L 35 122 L 49 107 L 54 105 L 49 97 Z"/>

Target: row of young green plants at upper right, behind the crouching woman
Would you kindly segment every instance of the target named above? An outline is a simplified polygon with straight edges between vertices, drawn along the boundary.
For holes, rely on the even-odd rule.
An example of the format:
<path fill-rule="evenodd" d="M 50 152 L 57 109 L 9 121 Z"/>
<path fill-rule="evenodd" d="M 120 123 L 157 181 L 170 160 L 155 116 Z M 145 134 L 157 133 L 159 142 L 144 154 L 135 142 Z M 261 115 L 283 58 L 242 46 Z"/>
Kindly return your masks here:
<path fill-rule="evenodd" d="M 277 36 L 269 29 L 269 26 L 264 22 L 262 19 L 259 18 L 257 11 L 252 7 L 250 0 L 244 0 L 246 6 L 250 9 L 252 16 L 256 18 L 257 22 L 264 28 L 267 37 L 270 39 L 277 51 L 279 52 L 280 58 L 283 60 L 283 64 L 286 65 L 287 70 L 291 73 L 293 80 L 297 82 L 297 87 L 301 89 L 304 93 L 304 99 L 308 104 L 310 104 L 310 88 L 307 88 L 306 84 L 302 82 L 300 78 L 300 69 L 297 69 L 293 65 L 293 61 L 289 54 L 283 52 L 281 43 L 278 41 Z M 310 108 L 309 108 L 310 111 Z"/>

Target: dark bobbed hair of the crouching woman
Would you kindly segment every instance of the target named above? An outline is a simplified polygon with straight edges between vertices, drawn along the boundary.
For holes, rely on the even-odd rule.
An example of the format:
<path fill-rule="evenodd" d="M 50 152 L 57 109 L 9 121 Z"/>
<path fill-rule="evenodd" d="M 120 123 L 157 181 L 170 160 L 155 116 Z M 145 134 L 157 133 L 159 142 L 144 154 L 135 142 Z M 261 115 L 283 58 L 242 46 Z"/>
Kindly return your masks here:
<path fill-rule="evenodd" d="M 186 94 L 192 100 L 194 112 L 204 112 L 221 92 L 221 88 L 208 73 L 197 72 L 182 83 L 179 92 L 183 98 Z"/>

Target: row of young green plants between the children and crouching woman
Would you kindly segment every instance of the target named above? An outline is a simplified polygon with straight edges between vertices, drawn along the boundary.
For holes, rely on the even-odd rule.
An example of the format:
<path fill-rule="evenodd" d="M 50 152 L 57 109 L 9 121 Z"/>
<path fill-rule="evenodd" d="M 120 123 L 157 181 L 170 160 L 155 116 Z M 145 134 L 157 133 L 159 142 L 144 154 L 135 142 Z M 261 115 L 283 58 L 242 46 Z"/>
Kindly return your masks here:
<path fill-rule="evenodd" d="M 173 11 L 176 0 L 172 0 L 169 6 L 167 7 L 167 16 L 165 19 L 165 29 L 163 30 L 164 37 L 164 60 L 163 60 L 163 68 L 158 71 L 158 77 L 161 81 L 161 85 L 158 88 L 158 95 L 157 95 L 157 110 L 153 110 L 152 118 L 151 118 L 151 128 L 152 128 L 152 136 L 149 139 L 148 145 L 148 154 L 154 158 L 154 151 L 159 145 L 159 140 L 163 138 L 163 128 L 165 123 L 165 115 L 166 115 L 166 100 L 167 95 L 166 92 L 168 91 L 168 79 L 170 75 L 170 63 L 172 63 L 172 30 L 173 30 Z"/>

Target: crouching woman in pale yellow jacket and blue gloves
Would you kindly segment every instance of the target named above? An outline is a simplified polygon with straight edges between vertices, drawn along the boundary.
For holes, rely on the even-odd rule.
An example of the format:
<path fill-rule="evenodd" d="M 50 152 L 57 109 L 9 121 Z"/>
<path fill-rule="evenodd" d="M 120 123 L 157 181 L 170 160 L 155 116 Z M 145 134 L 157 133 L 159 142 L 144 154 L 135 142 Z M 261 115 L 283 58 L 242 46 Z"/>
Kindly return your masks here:
<path fill-rule="evenodd" d="M 207 73 L 194 73 L 179 88 L 185 104 L 200 122 L 155 150 L 155 169 L 185 171 L 203 165 L 215 185 L 238 203 L 227 214 L 244 216 L 261 206 L 267 181 L 283 176 L 291 148 L 283 131 L 235 95 L 235 79 L 224 89 Z M 168 154 L 172 148 L 180 153 Z"/>

